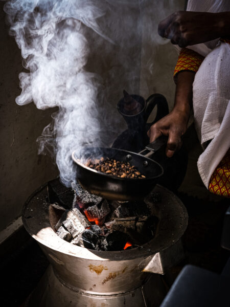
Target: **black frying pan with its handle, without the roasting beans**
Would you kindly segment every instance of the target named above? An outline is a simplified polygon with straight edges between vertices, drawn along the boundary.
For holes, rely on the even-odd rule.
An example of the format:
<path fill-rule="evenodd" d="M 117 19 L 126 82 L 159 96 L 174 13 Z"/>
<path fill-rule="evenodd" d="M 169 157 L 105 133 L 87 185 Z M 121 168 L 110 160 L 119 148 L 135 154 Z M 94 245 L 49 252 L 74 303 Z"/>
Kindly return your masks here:
<path fill-rule="evenodd" d="M 150 193 L 163 175 L 163 168 L 154 160 L 148 158 L 167 142 L 166 137 L 160 137 L 140 153 L 117 148 L 85 147 L 80 152 L 74 151 L 72 158 L 77 166 L 77 181 L 88 192 L 103 198 L 118 201 L 142 200 Z M 117 161 L 129 161 L 141 172 L 145 179 L 119 178 L 91 169 L 82 164 L 79 158 L 108 157 Z"/>

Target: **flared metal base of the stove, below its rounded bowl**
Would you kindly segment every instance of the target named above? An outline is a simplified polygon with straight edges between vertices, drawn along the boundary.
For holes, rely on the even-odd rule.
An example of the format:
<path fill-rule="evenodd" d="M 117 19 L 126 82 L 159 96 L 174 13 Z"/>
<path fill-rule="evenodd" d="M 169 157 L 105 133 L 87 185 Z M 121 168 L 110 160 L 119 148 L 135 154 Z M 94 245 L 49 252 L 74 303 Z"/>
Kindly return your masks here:
<path fill-rule="evenodd" d="M 68 287 L 51 266 L 47 269 L 25 307 L 157 307 L 166 295 L 162 277 L 149 273 L 142 287 L 115 295 L 92 295 Z"/>

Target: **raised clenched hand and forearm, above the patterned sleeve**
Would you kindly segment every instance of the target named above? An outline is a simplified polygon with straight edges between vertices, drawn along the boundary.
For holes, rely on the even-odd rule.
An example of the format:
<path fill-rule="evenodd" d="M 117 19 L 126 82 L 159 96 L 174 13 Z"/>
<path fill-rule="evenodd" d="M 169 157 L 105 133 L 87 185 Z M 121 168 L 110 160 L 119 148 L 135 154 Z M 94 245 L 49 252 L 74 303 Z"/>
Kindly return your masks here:
<path fill-rule="evenodd" d="M 185 48 L 227 35 L 229 19 L 229 12 L 178 11 L 159 23 L 158 34 Z"/>

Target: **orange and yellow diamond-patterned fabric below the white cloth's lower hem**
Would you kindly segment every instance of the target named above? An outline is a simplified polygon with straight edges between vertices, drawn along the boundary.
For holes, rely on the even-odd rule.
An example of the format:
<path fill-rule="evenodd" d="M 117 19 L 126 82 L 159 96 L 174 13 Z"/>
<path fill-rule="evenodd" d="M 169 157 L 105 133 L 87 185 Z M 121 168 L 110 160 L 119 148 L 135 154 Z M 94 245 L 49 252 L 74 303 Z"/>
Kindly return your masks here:
<path fill-rule="evenodd" d="M 230 198 L 230 149 L 212 174 L 209 190 L 214 194 Z"/>

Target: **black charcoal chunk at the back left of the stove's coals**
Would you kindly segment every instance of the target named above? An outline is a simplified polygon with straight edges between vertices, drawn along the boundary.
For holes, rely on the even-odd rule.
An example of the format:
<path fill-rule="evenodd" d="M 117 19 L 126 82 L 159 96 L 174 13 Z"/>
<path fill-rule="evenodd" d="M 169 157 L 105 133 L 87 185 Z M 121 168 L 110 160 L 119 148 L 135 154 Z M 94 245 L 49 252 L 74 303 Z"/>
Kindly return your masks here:
<path fill-rule="evenodd" d="M 72 188 L 66 188 L 60 179 L 54 179 L 48 182 L 48 199 L 51 204 L 58 204 L 64 209 L 71 209 L 74 200 L 74 191 Z"/>

